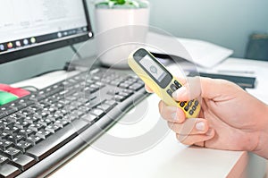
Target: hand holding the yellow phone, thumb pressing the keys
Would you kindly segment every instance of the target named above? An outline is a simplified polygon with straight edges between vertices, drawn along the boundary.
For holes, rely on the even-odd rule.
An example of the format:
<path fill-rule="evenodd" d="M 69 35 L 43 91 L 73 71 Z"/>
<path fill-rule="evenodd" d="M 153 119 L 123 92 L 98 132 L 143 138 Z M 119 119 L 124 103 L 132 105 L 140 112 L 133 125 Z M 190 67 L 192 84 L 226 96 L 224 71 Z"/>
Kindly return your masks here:
<path fill-rule="evenodd" d="M 186 119 L 179 107 L 159 103 L 160 114 L 180 142 L 253 151 L 268 158 L 268 106 L 229 81 L 192 78 L 181 82 L 184 87 L 176 90 L 173 97 L 177 101 L 202 97 L 199 118 Z M 192 83 L 200 83 L 200 87 L 189 87 L 195 85 Z"/>

